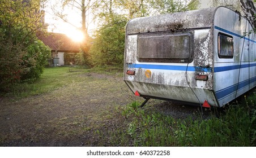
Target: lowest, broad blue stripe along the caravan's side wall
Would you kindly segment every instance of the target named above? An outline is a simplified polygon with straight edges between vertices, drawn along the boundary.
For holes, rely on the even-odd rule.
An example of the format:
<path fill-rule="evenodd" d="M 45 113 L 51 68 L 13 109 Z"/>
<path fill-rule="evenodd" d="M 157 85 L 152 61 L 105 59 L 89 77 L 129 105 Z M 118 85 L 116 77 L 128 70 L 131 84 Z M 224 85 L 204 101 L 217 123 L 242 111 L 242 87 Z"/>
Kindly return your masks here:
<path fill-rule="evenodd" d="M 235 85 L 226 87 L 225 89 L 216 91 L 216 93 L 215 93 L 216 98 L 218 100 L 224 99 L 227 96 L 232 95 L 233 93 L 235 93 L 236 90 L 243 89 L 244 87 L 249 86 L 249 84 L 252 84 L 253 82 L 256 82 L 256 77 L 250 78 L 250 81 L 245 80 L 245 81 L 239 82 L 239 84 L 235 84 Z"/>

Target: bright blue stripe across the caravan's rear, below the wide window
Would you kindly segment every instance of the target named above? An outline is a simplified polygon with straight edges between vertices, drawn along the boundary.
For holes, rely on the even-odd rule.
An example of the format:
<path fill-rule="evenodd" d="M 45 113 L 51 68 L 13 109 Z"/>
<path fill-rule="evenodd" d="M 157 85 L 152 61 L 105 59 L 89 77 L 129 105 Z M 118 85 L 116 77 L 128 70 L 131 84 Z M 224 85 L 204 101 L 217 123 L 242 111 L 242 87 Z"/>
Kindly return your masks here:
<path fill-rule="evenodd" d="M 129 68 L 144 68 L 144 69 L 163 69 L 163 70 L 173 70 L 173 71 L 203 71 L 212 72 L 212 68 L 206 67 L 187 67 L 178 65 L 152 65 L 152 64 L 128 64 Z"/>

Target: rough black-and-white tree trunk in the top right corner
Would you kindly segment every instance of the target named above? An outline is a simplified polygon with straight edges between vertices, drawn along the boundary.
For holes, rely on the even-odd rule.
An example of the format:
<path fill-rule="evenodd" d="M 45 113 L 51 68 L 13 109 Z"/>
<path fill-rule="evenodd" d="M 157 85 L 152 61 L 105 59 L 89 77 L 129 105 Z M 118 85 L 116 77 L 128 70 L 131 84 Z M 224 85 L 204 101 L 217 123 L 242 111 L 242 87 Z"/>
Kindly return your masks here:
<path fill-rule="evenodd" d="M 245 17 L 249 20 L 251 27 L 256 28 L 256 8 L 251 0 L 240 0 L 242 10 L 244 11 Z"/>

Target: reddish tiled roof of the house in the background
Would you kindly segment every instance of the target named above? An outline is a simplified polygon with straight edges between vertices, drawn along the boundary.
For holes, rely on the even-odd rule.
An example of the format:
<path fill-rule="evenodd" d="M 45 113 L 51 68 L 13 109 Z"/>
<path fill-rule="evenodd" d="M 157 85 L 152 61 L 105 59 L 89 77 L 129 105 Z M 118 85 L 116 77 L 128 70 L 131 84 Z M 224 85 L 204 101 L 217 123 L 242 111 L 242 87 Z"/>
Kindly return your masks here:
<path fill-rule="evenodd" d="M 79 52 L 79 43 L 72 41 L 66 34 L 61 33 L 37 33 L 37 37 L 44 42 L 46 46 L 49 46 L 52 51 L 70 51 Z"/>

